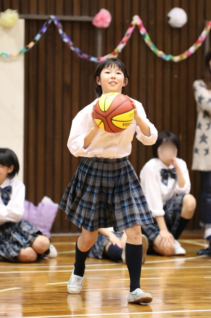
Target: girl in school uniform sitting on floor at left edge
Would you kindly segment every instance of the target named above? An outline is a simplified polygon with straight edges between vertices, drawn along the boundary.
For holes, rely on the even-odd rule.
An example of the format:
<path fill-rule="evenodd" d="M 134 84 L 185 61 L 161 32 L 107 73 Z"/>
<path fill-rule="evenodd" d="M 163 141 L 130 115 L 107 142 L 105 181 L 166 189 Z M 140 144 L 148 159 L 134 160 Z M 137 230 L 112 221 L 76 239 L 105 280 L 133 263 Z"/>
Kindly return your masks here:
<path fill-rule="evenodd" d="M 0 259 L 10 262 L 34 262 L 41 254 L 57 254 L 50 240 L 34 225 L 22 220 L 25 186 L 15 179 L 19 171 L 16 154 L 0 148 Z"/>

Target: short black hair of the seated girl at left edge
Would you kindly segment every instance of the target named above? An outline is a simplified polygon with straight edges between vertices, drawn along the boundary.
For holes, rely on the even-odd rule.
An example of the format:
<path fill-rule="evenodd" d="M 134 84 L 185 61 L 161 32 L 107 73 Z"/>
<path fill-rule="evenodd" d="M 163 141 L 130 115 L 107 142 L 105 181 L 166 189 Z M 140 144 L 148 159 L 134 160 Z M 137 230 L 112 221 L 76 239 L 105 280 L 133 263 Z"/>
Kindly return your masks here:
<path fill-rule="evenodd" d="M 10 166 L 14 166 L 12 172 L 8 173 L 7 177 L 9 179 L 14 178 L 16 173 L 18 174 L 19 171 L 19 162 L 16 154 L 14 151 L 8 148 L 0 148 L 0 164 L 2 166 L 6 166 L 10 168 Z"/>

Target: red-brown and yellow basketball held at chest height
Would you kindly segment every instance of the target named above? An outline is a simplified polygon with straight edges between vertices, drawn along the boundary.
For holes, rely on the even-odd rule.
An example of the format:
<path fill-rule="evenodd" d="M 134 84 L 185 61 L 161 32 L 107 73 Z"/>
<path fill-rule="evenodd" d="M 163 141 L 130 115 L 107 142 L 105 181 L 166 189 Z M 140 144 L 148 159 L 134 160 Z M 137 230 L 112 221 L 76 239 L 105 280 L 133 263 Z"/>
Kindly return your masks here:
<path fill-rule="evenodd" d="M 120 93 L 102 95 L 94 107 L 94 119 L 108 133 L 120 133 L 128 128 L 134 118 L 134 108 L 129 98 Z"/>

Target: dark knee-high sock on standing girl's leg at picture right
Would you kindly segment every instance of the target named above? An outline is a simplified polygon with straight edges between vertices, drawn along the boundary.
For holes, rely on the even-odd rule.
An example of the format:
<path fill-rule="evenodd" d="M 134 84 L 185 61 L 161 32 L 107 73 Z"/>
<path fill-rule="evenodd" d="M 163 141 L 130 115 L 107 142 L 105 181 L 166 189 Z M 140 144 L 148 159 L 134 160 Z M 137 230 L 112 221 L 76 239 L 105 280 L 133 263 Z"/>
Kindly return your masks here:
<path fill-rule="evenodd" d="M 140 288 L 142 253 L 142 244 L 134 245 L 126 243 L 125 259 L 131 280 L 130 292 L 133 292 L 136 288 Z"/>

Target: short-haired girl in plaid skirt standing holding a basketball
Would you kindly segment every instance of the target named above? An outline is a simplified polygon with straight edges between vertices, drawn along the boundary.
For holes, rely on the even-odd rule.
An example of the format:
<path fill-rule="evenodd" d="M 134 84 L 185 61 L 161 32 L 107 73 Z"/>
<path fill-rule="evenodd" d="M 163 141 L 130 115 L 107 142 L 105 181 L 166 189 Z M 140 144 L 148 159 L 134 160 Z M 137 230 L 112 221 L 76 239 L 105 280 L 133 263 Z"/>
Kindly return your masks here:
<path fill-rule="evenodd" d="M 96 69 L 94 86 L 98 96 L 122 93 L 129 75 L 118 59 L 107 59 Z M 130 99 L 131 100 L 131 99 Z M 140 288 L 142 265 L 141 225 L 153 223 L 138 177 L 128 161 L 131 141 L 136 137 L 144 145 L 157 140 L 157 130 L 146 118 L 142 104 L 131 100 L 134 119 L 120 133 L 108 133 L 99 128 L 93 117 L 98 99 L 83 108 L 74 118 L 67 146 L 74 156 L 84 157 L 68 185 L 60 208 L 67 213 L 82 234 L 76 242 L 75 264 L 67 284 L 70 294 L 82 289 L 85 261 L 98 236 L 99 228 L 125 230 L 125 258 L 130 275 L 128 302 L 152 301 L 152 296 Z"/>

